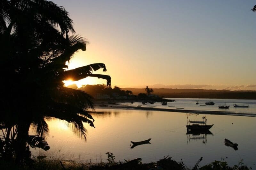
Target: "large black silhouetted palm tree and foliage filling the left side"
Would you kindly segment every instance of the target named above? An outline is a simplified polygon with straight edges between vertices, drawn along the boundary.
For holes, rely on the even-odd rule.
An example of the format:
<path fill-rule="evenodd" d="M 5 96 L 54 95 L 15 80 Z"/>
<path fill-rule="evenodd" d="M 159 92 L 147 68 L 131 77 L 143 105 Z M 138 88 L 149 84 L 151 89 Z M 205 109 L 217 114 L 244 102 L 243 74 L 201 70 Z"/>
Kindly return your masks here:
<path fill-rule="evenodd" d="M 48 150 L 44 116 L 72 123 L 71 130 L 86 140 L 83 122 L 94 127 L 88 113 L 94 108 L 92 97 L 64 87 L 62 81 L 97 77 L 106 79 L 107 86 L 111 83 L 108 75 L 92 74 L 107 71 L 103 63 L 65 70 L 78 50 L 86 50 L 86 43 L 75 34 L 68 12 L 51 1 L 0 1 L 0 69 L 5 81 L 0 85 L 0 159 L 28 164 L 29 145 Z M 31 125 L 36 136 L 28 135 Z"/>

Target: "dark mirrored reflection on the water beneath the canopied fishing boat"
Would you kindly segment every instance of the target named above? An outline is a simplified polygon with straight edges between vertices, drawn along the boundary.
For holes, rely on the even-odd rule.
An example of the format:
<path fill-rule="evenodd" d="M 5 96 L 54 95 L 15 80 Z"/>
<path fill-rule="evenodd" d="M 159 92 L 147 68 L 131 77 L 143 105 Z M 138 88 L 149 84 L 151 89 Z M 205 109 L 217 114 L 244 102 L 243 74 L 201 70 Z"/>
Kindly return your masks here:
<path fill-rule="evenodd" d="M 210 130 L 189 130 L 186 133 L 187 135 L 187 144 L 191 142 L 191 140 L 203 140 L 203 144 L 207 143 L 207 135 L 212 135 Z"/>

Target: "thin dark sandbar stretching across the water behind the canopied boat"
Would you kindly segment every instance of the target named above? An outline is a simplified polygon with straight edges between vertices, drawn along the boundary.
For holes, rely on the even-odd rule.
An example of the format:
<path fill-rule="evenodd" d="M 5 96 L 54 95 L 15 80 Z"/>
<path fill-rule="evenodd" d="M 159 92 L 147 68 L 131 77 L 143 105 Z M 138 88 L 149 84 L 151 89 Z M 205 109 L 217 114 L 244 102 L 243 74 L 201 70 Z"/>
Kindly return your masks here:
<path fill-rule="evenodd" d="M 202 110 L 185 110 L 185 109 L 170 109 L 170 108 L 157 108 L 157 107 L 135 107 L 135 106 L 118 106 L 111 105 L 107 107 L 100 107 L 96 104 L 95 109 L 124 109 L 124 110 L 149 110 L 149 111 L 162 111 L 162 112 L 177 112 L 177 113 L 193 113 L 193 114 L 204 114 L 204 115 L 230 115 L 230 116 L 247 116 L 247 117 L 256 117 L 256 114 L 253 113 L 236 113 L 231 111 L 202 111 Z M 97 112 L 97 111 L 95 111 Z M 93 113 L 93 112 L 92 112 Z"/>

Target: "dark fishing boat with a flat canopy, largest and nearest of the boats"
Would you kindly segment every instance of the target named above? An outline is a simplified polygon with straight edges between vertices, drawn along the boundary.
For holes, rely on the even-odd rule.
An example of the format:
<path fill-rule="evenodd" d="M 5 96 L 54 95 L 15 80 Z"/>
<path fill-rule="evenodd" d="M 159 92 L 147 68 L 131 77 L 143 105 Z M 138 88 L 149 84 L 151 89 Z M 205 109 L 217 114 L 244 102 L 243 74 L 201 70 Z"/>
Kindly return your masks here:
<path fill-rule="evenodd" d="M 188 121 L 187 122 L 187 131 L 188 130 L 194 130 L 194 131 L 198 131 L 198 130 L 209 130 L 212 128 L 212 125 L 206 125 L 207 119 L 204 116 L 203 117 L 203 121 Z M 190 123 L 193 123 L 192 125 L 190 125 Z"/>

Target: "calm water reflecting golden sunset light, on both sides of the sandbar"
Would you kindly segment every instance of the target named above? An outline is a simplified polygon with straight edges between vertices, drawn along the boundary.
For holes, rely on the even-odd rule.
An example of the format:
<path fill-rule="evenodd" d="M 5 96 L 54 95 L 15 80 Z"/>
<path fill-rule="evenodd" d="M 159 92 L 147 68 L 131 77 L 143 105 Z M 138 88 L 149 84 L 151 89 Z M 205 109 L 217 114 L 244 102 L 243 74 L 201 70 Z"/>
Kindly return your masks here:
<path fill-rule="evenodd" d="M 189 109 L 197 108 L 194 106 L 195 100 L 182 99 L 183 104 L 182 101 L 176 100 L 177 102 L 173 102 L 173 105 L 191 107 Z M 225 100 L 218 101 L 225 102 Z M 235 103 L 251 102 L 249 109 L 242 109 L 256 113 L 255 100 L 239 101 L 236 100 Z M 228 101 L 227 104 L 229 102 L 231 105 L 233 100 Z M 217 107 L 216 104 L 219 103 L 216 102 L 215 107 Z M 171 104 L 168 103 L 168 105 Z M 207 110 L 209 108 L 216 109 L 215 107 L 209 106 Z M 235 108 L 231 107 L 231 109 L 233 111 Z M 32 153 L 38 155 L 41 152 L 41 154 L 52 157 L 77 161 L 100 162 L 102 160 L 106 162 L 105 153 L 110 151 L 116 156 L 116 161 L 142 158 L 144 163 L 157 161 L 170 155 L 176 161 L 182 159 L 188 167 L 194 166 L 202 156 L 203 161 L 200 165 L 224 158 L 232 166 L 244 159 L 246 165 L 252 166 L 253 169 L 256 168 L 255 117 L 206 115 L 207 124 L 214 124 L 210 129 L 212 134 L 189 135 L 186 134 L 185 127 L 187 116 L 190 120 L 201 121 L 204 114 L 188 115 L 186 113 L 111 108 L 100 108 L 96 111 L 102 112 L 92 114 L 96 128 L 84 124 L 87 128 L 87 142 L 74 135 L 69 130 L 67 123 L 57 119 L 48 119 L 50 137 L 47 142 L 51 149 L 47 152 L 36 149 L 32 150 Z M 130 149 L 130 141 L 141 141 L 148 138 L 152 138 L 151 144 Z M 225 146 L 225 138 L 237 143 L 238 150 L 235 151 L 233 148 Z"/>

